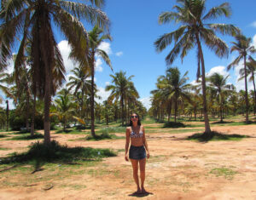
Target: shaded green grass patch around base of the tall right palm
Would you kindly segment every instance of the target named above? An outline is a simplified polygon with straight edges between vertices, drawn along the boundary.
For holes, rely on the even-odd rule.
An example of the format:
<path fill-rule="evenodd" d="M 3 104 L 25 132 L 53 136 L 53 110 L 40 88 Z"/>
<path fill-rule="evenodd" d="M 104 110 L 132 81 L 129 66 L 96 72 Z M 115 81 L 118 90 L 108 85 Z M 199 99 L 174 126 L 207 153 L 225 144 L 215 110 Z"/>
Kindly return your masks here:
<path fill-rule="evenodd" d="M 195 140 L 195 141 L 219 141 L 219 140 L 231 140 L 231 141 L 239 141 L 243 138 L 249 138 L 247 135 L 243 134 L 222 134 L 215 131 L 212 131 L 212 135 L 208 137 L 206 134 L 192 134 L 188 137 L 188 140 Z"/>

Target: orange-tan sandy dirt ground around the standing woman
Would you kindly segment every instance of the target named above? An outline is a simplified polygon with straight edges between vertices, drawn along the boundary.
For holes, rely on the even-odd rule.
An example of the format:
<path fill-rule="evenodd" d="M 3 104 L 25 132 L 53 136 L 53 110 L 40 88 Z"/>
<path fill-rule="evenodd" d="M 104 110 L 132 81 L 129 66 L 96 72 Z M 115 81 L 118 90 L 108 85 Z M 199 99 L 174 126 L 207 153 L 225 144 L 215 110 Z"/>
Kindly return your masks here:
<path fill-rule="evenodd" d="M 193 132 L 148 134 L 151 157 L 146 166 L 145 187 L 151 192 L 143 199 L 256 199 L 256 125 L 213 127 L 225 134 L 247 134 L 240 141 L 199 143 L 185 140 Z M 122 134 L 122 133 L 120 133 Z M 68 146 L 90 146 L 119 150 L 117 157 L 104 158 L 94 174 L 73 174 L 65 179 L 39 181 L 28 186 L 3 186 L 0 199 L 137 199 L 130 196 L 136 186 L 131 163 L 125 162 L 125 140 L 82 141 L 83 135 L 52 134 Z M 70 141 L 73 140 L 73 141 Z M 0 156 L 25 151 L 31 141 L 0 140 Z M 102 173 L 96 173 L 102 172 Z M 38 175 L 43 172 L 38 172 Z M 27 174 L 28 176 L 31 173 Z M 15 174 L 13 179 L 19 179 Z M 5 177 L 0 174 L 0 182 Z M 44 186 L 52 185 L 49 190 Z M 61 185 L 67 187 L 61 187 Z M 82 188 L 68 185 L 83 185 Z"/>

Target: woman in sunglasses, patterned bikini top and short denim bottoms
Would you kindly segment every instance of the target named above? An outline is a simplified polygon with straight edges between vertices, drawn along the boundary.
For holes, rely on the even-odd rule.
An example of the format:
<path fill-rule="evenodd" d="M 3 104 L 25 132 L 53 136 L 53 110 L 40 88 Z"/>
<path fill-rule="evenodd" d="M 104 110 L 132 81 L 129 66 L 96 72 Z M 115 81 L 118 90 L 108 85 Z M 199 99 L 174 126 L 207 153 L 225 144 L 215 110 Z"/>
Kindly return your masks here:
<path fill-rule="evenodd" d="M 126 144 L 125 144 L 125 160 L 128 159 L 128 147 L 131 146 L 129 150 L 129 158 L 131 160 L 131 165 L 133 169 L 133 178 L 135 183 L 137 184 L 137 191 L 135 193 L 146 193 L 147 191 L 144 188 L 144 180 L 145 180 L 145 167 L 146 167 L 146 151 L 147 157 L 149 158 L 148 144 L 145 136 L 145 129 L 141 125 L 139 116 L 137 113 L 133 113 L 131 115 L 130 127 L 126 129 Z M 138 163 L 140 166 L 140 174 L 141 174 L 141 187 L 139 186 L 139 179 L 137 175 L 138 171 Z"/>

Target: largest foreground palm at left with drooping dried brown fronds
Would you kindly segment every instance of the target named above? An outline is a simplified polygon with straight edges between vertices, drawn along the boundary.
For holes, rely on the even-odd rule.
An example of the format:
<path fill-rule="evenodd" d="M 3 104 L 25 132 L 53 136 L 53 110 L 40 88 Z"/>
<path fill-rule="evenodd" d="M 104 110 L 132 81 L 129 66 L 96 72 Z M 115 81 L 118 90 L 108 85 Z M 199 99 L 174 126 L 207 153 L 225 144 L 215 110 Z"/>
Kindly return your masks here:
<path fill-rule="evenodd" d="M 22 62 L 28 38 L 32 46 L 33 82 L 41 97 L 44 97 L 44 144 L 49 146 L 49 106 L 55 94 L 55 83 L 64 79 L 65 67 L 55 42 L 53 24 L 60 27 L 72 47 L 86 43 L 86 30 L 78 18 L 108 27 L 108 17 L 102 12 L 104 0 L 90 0 L 90 4 L 64 0 L 10 0 L 2 1 L 0 20 L 0 69 L 7 66 L 12 56 L 15 38 L 21 36 L 16 62 Z M 17 65 L 20 66 L 20 65 Z"/>

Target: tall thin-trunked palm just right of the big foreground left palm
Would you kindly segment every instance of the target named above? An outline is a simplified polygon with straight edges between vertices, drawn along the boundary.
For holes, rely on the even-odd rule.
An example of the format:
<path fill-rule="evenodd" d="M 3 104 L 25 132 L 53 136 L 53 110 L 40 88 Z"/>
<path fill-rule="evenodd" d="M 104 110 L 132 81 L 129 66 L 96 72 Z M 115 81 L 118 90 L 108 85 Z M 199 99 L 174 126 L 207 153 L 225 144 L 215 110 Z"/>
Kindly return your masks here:
<path fill-rule="evenodd" d="M 95 134 L 95 117 L 94 117 L 94 97 L 95 97 L 95 89 L 94 89 L 94 77 L 95 77 L 95 67 L 96 67 L 96 55 L 100 56 L 108 66 L 110 66 L 111 70 L 112 65 L 111 61 L 108 57 L 108 54 L 102 50 L 99 49 L 100 44 L 108 39 L 112 40 L 109 34 L 103 34 L 103 30 L 99 28 L 99 26 L 94 26 L 92 31 L 88 33 L 88 42 L 89 42 L 89 51 L 87 52 L 87 49 L 77 49 L 74 47 L 71 52 L 71 57 L 73 57 L 75 60 L 78 60 L 81 66 L 84 66 L 84 68 L 90 68 L 90 77 L 91 77 L 91 88 L 90 88 L 90 123 L 91 123 L 91 134 L 93 137 L 96 136 Z M 87 48 L 87 47 L 86 47 Z"/>

